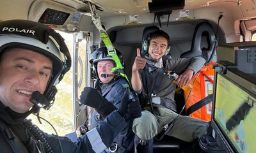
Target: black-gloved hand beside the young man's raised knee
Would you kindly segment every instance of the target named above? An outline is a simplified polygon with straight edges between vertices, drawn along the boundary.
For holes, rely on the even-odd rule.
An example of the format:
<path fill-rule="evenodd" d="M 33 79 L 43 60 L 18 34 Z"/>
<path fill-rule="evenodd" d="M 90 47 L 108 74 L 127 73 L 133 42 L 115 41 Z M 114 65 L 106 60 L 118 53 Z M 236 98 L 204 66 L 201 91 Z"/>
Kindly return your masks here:
<path fill-rule="evenodd" d="M 126 89 L 121 101 L 121 106 L 118 108 L 117 112 L 120 113 L 120 115 L 124 117 L 125 120 L 141 117 L 140 103 L 138 99 L 136 99 L 135 96 L 131 94 L 129 88 Z"/>

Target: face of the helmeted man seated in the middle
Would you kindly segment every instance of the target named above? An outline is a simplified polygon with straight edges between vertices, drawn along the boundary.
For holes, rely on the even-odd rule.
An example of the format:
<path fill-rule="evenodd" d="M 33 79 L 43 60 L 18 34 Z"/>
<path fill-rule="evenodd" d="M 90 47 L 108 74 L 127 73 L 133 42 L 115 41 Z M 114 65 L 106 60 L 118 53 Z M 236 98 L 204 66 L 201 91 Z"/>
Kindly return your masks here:
<path fill-rule="evenodd" d="M 113 78 L 113 73 L 110 73 L 111 69 L 115 67 L 113 61 L 99 61 L 97 63 L 97 73 L 99 79 L 103 84 L 108 84 Z M 108 77 L 103 77 L 102 75 L 108 75 Z"/>

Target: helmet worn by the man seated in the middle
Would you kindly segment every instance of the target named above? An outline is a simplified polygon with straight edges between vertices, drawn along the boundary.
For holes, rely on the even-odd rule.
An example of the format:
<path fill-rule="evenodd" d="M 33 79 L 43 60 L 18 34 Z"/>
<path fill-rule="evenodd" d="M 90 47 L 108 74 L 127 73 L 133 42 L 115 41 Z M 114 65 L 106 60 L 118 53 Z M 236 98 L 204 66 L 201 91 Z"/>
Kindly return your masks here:
<path fill-rule="evenodd" d="M 116 55 L 118 55 L 118 58 L 119 58 L 119 60 L 122 64 L 122 66 L 124 67 L 123 55 L 118 50 L 116 50 Z M 95 71 L 96 77 L 99 77 L 98 74 L 97 74 L 97 63 L 99 61 L 113 61 L 115 66 L 116 66 L 116 62 L 113 59 L 113 57 L 111 55 L 108 55 L 108 49 L 106 47 L 98 48 L 97 50 L 95 50 L 92 53 L 92 56 L 91 56 L 91 59 L 90 59 L 90 64 L 92 64 L 92 66 L 93 66 L 93 71 Z"/>

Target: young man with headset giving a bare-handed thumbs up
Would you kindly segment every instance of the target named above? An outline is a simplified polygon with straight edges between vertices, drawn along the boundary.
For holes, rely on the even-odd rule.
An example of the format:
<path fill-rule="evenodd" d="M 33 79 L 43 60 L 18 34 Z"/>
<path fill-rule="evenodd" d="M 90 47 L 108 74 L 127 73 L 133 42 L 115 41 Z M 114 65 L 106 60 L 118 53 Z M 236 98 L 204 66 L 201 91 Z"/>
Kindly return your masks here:
<path fill-rule="evenodd" d="M 132 129 L 139 138 L 138 152 L 147 148 L 149 140 L 163 130 L 163 127 L 173 122 L 173 127 L 167 135 L 174 136 L 186 142 L 193 142 L 204 135 L 207 122 L 178 115 L 174 100 L 176 84 L 186 86 L 193 75 L 204 66 L 202 57 L 193 58 L 164 58 L 170 51 L 170 38 L 164 31 L 150 33 L 148 41 L 143 42 L 147 50 L 145 57 L 137 57 L 132 66 L 132 88 L 142 94 L 141 107 L 144 109 L 140 118 L 134 119 Z M 167 77 L 167 71 L 175 71 L 179 75 L 176 84 Z M 152 143 L 152 142 L 151 142 Z"/>

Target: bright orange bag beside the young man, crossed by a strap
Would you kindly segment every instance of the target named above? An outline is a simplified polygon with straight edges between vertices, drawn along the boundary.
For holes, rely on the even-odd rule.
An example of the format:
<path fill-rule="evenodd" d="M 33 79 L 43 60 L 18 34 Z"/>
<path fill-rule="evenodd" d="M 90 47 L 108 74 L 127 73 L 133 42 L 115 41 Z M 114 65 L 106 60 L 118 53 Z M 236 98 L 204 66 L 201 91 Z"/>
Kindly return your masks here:
<path fill-rule="evenodd" d="M 209 65 L 204 66 L 201 71 L 198 71 L 193 78 L 191 78 L 189 84 L 193 85 L 191 88 L 191 94 L 189 96 L 190 89 L 184 91 L 185 101 L 188 98 L 186 103 L 186 111 L 188 108 L 201 99 L 204 99 L 209 94 L 213 92 L 213 78 L 214 78 L 214 69 L 212 69 L 212 65 L 215 62 L 211 62 Z M 195 80 L 196 79 L 196 80 Z M 195 83 L 194 83 L 195 80 Z M 211 112 L 212 112 L 212 102 L 208 103 L 205 106 L 202 106 L 200 109 L 195 112 L 189 114 L 190 117 L 202 120 L 211 120 Z"/>

